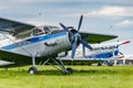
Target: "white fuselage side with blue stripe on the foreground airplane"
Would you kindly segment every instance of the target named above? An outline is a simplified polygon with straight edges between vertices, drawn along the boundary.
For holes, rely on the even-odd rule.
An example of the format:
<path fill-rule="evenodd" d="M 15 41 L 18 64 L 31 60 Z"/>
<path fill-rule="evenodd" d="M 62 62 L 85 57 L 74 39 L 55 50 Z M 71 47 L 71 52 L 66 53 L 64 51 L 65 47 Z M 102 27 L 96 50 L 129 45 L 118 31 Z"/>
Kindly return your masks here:
<path fill-rule="evenodd" d="M 25 56 L 32 56 L 37 54 L 37 57 L 43 57 L 47 55 L 65 52 L 71 48 L 71 43 L 69 41 L 69 36 L 66 32 L 60 32 L 55 34 L 42 34 L 39 36 L 30 36 L 23 40 L 16 40 L 16 37 L 11 36 L 7 32 L 0 33 L 0 36 L 4 37 L 0 40 L 1 48 L 12 52 L 12 53 L 20 54 L 20 55 L 25 55 Z M 49 36 L 49 38 L 44 38 L 47 36 Z M 52 44 L 53 43 L 55 44 L 45 45 L 44 43 L 47 42 L 49 44 L 50 42 Z M 16 44 L 16 47 L 12 47 L 14 44 Z M 10 48 L 10 45 L 12 45 L 11 48 Z"/>

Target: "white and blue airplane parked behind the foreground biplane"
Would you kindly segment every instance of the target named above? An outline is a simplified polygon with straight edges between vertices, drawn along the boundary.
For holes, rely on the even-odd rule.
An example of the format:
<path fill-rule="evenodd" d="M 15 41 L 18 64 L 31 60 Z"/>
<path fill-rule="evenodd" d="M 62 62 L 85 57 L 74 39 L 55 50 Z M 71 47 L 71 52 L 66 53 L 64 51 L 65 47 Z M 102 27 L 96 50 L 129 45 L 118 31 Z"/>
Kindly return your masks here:
<path fill-rule="evenodd" d="M 109 66 L 112 66 L 110 61 L 119 61 L 124 55 L 120 52 L 119 47 L 121 45 L 127 44 L 130 41 L 114 42 L 114 43 L 100 43 L 100 44 L 90 44 L 93 50 L 86 50 L 84 46 L 79 45 L 75 57 L 75 62 L 89 62 L 89 64 L 98 63 L 98 66 L 101 66 L 105 63 Z M 69 52 L 71 53 L 71 52 Z M 70 54 L 65 57 L 60 58 L 62 61 L 71 61 Z"/>

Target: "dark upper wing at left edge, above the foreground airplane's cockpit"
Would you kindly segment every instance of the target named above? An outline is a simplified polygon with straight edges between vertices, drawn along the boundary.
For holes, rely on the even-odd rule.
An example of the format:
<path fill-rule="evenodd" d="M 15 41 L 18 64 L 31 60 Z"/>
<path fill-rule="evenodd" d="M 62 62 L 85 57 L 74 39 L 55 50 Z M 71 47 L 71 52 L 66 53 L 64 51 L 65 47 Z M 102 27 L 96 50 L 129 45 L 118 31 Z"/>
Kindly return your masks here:
<path fill-rule="evenodd" d="M 25 24 L 25 23 L 0 18 L 0 30 L 1 31 L 19 33 L 19 32 L 23 32 L 27 30 L 31 30 L 33 28 L 35 28 L 35 26 L 31 25 L 31 24 Z"/>

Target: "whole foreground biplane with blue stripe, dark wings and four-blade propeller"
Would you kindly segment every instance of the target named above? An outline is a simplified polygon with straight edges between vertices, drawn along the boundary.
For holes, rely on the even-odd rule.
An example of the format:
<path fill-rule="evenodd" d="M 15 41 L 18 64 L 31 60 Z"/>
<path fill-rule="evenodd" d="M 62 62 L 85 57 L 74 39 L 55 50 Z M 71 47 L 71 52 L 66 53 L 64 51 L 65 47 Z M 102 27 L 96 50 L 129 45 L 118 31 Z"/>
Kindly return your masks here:
<path fill-rule="evenodd" d="M 72 68 L 65 68 L 62 61 L 57 57 L 65 56 L 68 51 L 72 50 L 71 58 L 74 58 L 75 50 L 79 44 L 82 44 L 90 51 L 92 46 L 88 42 L 102 42 L 115 38 L 115 35 L 99 35 L 89 33 L 79 33 L 82 24 L 83 15 L 79 21 L 78 30 L 68 30 L 60 23 L 63 30 L 58 26 L 35 26 L 12 20 L 0 18 L 0 58 L 1 61 L 10 62 L 13 66 L 31 65 L 30 74 L 37 74 L 42 65 L 58 64 L 55 68 L 61 69 L 65 74 L 71 74 Z M 83 35 L 81 37 L 81 35 Z M 86 35 L 90 35 L 90 40 Z M 100 40 L 98 37 L 101 37 Z M 53 62 L 53 63 L 51 63 Z M 37 68 L 39 64 L 39 68 Z M 52 65 L 54 66 L 54 65 Z"/>

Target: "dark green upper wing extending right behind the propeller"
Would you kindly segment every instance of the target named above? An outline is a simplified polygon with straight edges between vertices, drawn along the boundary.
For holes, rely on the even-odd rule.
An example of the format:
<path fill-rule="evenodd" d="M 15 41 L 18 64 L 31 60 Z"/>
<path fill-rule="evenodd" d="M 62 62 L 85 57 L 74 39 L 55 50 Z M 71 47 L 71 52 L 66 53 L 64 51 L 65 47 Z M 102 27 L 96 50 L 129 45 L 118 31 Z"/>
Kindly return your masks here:
<path fill-rule="evenodd" d="M 95 34 L 95 33 L 83 33 L 83 32 L 80 32 L 80 34 L 82 38 L 86 40 L 88 43 L 101 43 L 117 37 L 116 35 L 105 35 L 105 34 Z"/>

